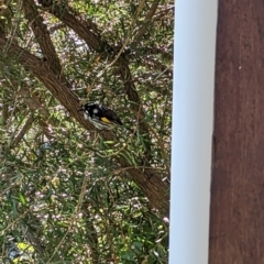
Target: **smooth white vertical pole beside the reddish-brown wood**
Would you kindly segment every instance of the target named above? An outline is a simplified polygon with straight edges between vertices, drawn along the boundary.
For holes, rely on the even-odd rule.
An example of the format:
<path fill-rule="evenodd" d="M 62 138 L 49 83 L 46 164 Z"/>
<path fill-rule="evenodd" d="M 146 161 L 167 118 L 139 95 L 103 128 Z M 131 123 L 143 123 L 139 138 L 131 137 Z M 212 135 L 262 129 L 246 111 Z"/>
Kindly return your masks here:
<path fill-rule="evenodd" d="M 169 264 L 208 263 L 217 0 L 176 0 Z"/>

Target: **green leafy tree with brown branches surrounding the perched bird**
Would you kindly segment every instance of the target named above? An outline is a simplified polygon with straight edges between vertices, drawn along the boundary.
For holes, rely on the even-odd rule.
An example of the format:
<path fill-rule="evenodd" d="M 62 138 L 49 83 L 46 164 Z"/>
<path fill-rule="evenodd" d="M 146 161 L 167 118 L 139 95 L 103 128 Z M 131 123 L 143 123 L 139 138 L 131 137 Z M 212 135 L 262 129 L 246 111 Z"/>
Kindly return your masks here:
<path fill-rule="evenodd" d="M 167 262 L 173 4 L 0 1 L 2 263 Z"/>

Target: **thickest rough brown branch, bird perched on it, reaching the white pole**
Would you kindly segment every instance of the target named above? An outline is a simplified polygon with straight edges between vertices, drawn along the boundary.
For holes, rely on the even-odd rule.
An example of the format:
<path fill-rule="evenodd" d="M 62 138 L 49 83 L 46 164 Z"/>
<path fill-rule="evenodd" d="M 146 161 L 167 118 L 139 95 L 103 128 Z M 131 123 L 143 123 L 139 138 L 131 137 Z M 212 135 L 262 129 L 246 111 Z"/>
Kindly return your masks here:
<path fill-rule="evenodd" d="M 18 46 L 15 43 L 9 43 L 8 50 L 6 48 L 6 44 L 7 40 L 3 34 L 0 34 L 0 51 L 6 51 L 8 56 L 16 58 L 26 70 L 42 81 L 52 95 L 69 111 L 72 117 L 74 117 L 84 128 L 87 130 L 94 129 L 94 127 L 84 119 L 82 114 L 78 112 L 79 99 L 77 96 L 59 81 L 57 76 L 51 70 L 48 62 L 43 62 L 30 52 Z M 114 135 L 111 132 L 102 131 L 101 134 L 106 140 L 114 139 Z M 162 216 L 167 216 L 169 184 L 164 182 L 154 168 L 139 169 L 132 167 L 131 164 L 121 157 L 118 157 L 118 163 L 122 167 L 130 167 L 128 173 L 141 187 L 151 205 L 154 208 L 157 208 Z M 162 198 L 157 199 L 157 197 Z"/>

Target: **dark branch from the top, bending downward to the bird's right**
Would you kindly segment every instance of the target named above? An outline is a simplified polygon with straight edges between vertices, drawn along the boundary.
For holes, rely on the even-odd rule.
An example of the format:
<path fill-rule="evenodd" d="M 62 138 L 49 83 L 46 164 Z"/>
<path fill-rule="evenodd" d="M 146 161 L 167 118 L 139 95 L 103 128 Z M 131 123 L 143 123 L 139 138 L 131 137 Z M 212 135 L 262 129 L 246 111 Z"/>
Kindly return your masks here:
<path fill-rule="evenodd" d="M 54 14 L 57 19 L 63 21 L 67 26 L 75 31 L 91 50 L 98 52 L 102 57 L 109 57 L 109 53 L 110 57 L 117 56 L 117 54 L 113 54 L 114 48 L 112 48 L 106 41 L 101 41 L 101 35 L 98 33 L 98 31 L 95 31 L 95 26 L 92 26 L 91 23 L 77 20 L 76 16 L 68 11 L 67 7 L 62 8 L 53 0 L 38 0 L 38 2 L 45 8 L 45 10 Z M 116 65 L 118 66 L 118 73 L 123 80 L 124 91 L 128 95 L 129 100 L 132 102 L 131 109 L 134 111 L 139 119 L 139 131 L 142 135 L 144 135 L 146 147 L 145 156 L 146 160 L 148 160 L 152 153 L 150 131 L 146 122 L 144 121 L 145 114 L 143 111 L 141 99 L 136 91 L 129 67 L 129 62 L 127 61 L 124 54 L 121 54 L 118 57 Z"/>

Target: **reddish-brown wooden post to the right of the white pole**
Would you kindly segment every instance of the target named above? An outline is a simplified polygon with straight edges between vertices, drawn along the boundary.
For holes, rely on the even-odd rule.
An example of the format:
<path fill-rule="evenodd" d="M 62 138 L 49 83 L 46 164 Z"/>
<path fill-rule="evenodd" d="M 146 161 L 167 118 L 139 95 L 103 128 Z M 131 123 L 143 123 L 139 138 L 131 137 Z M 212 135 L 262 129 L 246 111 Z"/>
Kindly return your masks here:
<path fill-rule="evenodd" d="M 264 3 L 219 1 L 210 264 L 264 263 Z"/>

